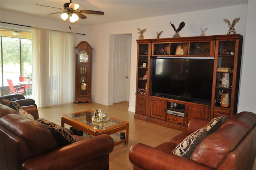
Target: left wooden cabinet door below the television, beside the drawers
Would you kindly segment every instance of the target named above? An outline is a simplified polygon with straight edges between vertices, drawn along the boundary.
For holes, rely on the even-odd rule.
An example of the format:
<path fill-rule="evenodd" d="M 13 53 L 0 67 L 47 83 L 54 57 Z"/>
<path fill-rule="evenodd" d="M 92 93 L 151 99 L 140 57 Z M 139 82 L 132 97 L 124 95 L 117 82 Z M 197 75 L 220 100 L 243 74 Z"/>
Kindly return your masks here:
<path fill-rule="evenodd" d="M 166 100 L 159 98 L 151 98 L 150 100 L 150 116 L 160 120 L 166 120 Z"/>

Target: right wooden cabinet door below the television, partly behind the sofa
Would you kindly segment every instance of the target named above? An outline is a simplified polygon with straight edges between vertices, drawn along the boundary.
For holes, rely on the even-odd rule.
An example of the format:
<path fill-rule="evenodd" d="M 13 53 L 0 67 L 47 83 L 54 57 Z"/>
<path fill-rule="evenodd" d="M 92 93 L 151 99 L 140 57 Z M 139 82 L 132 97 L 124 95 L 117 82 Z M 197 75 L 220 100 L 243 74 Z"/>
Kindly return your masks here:
<path fill-rule="evenodd" d="M 202 119 L 208 119 L 208 106 L 186 104 L 185 125 L 188 126 L 189 120 L 194 118 L 194 117 L 202 118 Z"/>

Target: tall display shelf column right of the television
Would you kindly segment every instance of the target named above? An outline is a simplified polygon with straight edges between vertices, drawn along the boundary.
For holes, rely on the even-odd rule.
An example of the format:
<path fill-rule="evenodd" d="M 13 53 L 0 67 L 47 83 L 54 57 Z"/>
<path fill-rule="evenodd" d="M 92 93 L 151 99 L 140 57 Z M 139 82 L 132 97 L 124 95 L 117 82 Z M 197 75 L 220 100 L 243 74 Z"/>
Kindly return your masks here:
<path fill-rule="evenodd" d="M 242 36 L 218 36 L 216 38 L 216 84 L 213 87 L 212 118 L 220 115 L 231 117 L 237 112 L 241 53 Z M 228 97 L 223 98 L 226 94 Z"/>

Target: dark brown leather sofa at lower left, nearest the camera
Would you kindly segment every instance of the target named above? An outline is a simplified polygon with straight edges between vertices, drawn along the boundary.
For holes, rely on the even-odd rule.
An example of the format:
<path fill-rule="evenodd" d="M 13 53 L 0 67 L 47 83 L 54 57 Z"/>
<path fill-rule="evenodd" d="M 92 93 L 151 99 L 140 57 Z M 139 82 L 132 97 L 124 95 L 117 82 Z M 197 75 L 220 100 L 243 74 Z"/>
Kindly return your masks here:
<path fill-rule="evenodd" d="M 22 109 L 38 118 L 36 106 Z M 0 112 L 1 170 L 109 169 L 109 154 L 114 148 L 109 135 L 89 139 L 73 135 L 77 142 L 58 147 L 53 134 L 42 123 L 23 118 L 2 104 Z"/>

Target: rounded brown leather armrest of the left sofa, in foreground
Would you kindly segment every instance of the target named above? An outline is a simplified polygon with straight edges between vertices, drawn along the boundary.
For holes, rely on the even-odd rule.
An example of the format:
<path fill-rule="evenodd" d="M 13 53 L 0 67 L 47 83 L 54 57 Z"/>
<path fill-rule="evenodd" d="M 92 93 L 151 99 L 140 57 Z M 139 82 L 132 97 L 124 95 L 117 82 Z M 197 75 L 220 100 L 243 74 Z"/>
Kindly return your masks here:
<path fill-rule="evenodd" d="M 112 152 L 111 136 L 102 134 L 87 140 L 57 148 L 51 152 L 26 160 L 22 170 L 70 170 L 107 156 Z M 98 163 L 100 166 L 100 162 Z M 107 161 L 108 166 L 108 161 Z M 108 167 L 107 167 L 108 168 Z"/>

